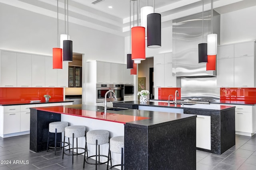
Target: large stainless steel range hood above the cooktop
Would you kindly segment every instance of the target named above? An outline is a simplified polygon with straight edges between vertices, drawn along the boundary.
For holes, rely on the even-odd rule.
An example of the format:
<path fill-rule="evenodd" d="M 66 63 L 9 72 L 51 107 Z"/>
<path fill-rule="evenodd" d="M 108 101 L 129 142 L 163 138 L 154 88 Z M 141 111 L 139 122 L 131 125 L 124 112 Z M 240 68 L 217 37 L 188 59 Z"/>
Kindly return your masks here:
<path fill-rule="evenodd" d="M 220 14 L 213 12 L 213 33 L 220 44 Z M 172 76 L 216 76 L 198 63 L 198 44 L 202 43 L 202 13 L 172 21 Z M 204 43 L 211 31 L 211 12 L 204 12 Z"/>

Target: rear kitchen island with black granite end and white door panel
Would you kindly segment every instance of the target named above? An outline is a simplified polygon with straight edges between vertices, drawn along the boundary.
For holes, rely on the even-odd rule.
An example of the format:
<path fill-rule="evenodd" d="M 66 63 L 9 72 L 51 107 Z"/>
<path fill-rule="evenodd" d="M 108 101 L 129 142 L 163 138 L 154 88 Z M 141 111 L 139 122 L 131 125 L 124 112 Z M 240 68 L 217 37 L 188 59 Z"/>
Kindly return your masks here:
<path fill-rule="evenodd" d="M 200 135 L 200 133 L 203 132 L 201 136 L 198 137 L 197 143 L 206 141 L 206 145 L 203 145 L 203 147 L 197 147 L 198 150 L 222 154 L 226 150 L 233 147 L 236 143 L 234 106 L 218 106 L 209 104 L 169 104 L 168 106 L 168 103 L 166 102 L 147 102 L 140 104 L 139 101 L 114 102 L 113 106 L 141 110 L 159 110 L 166 112 L 175 112 L 177 110 L 178 113 L 197 115 L 197 135 Z M 207 129 L 207 125 L 206 128 L 205 126 L 199 125 L 200 121 L 206 121 L 206 119 L 209 119 L 208 133 L 204 133 L 204 131 Z"/>

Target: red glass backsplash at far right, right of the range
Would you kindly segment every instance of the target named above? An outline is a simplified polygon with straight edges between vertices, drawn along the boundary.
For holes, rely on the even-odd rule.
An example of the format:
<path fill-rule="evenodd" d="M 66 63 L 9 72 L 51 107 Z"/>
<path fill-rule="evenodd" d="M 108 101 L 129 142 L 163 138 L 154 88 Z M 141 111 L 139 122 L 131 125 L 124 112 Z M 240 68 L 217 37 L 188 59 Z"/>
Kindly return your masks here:
<path fill-rule="evenodd" d="M 256 88 L 220 88 L 220 100 L 256 102 Z"/>

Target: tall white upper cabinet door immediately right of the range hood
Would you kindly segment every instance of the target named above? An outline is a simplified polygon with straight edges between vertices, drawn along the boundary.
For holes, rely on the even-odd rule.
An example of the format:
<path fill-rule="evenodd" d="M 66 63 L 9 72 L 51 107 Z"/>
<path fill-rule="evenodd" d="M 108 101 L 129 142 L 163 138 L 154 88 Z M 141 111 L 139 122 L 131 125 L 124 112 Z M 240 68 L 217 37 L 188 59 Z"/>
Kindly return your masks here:
<path fill-rule="evenodd" d="M 217 87 L 234 87 L 234 58 L 217 60 Z"/>

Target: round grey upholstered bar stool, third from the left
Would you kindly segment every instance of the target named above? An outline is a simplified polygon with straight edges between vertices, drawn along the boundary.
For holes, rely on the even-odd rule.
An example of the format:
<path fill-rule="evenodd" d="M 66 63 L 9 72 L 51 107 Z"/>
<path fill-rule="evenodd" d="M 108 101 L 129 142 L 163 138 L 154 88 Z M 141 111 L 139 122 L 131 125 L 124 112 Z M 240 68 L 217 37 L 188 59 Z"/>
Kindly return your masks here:
<path fill-rule="evenodd" d="M 109 150 L 109 147 L 108 147 L 108 156 L 106 155 L 102 155 L 100 154 L 100 145 L 103 145 L 103 144 L 106 144 L 106 143 L 109 143 L 109 132 L 108 131 L 105 131 L 105 130 L 92 130 L 92 131 L 88 131 L 86 133 L 86 149 L 87 149 L 87 144 L 89 145 L 96 145 L 95 148 L 96 148 L 96 155 L 92 155 L 92 156 L 87 156 L 87 158 L 85 158 L 85 155 L 84 155 L 84 164 L 85 162 L 88 163 L 88 164 L 92 164 L 92 165 L 96 165 L 96 170 L 97 170 L 97 165 L 100 165 L 100 164 L 106 164 L 107 162 L 109 162 L 110 160 L 110 164 L 112 165 L 112 162 L 111 162 L 111 155 L 110 155 L 110 150 Z M 97 153 L 97 146 L 98 146 L 98 153 Z M 100 162 L 100 157 L 106 157 L 108 158 L 108 160 L 106 162 Z M 91 158 L 91 157 L 95 157 L 95 163 L 91 163 L 91 162 L 88 162 L 88 158 Z M 97 162 L 97 157 L 98 157 L 98 162 Z M 84 168 L 84 166 L 83 166 Z"/>

